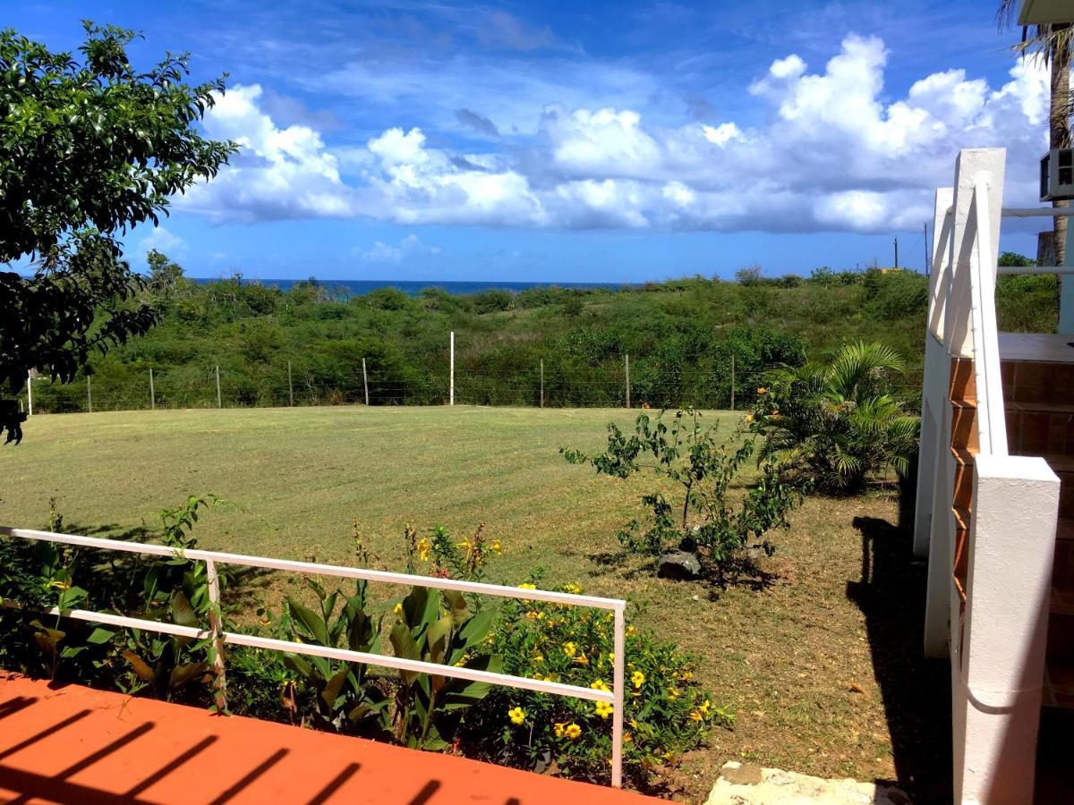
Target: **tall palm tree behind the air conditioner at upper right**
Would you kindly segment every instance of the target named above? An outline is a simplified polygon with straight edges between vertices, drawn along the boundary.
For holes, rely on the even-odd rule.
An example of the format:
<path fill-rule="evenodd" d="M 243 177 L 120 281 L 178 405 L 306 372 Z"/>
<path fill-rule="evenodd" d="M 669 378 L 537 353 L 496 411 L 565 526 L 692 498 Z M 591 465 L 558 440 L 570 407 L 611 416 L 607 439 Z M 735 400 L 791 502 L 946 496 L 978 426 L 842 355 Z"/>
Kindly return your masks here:
<path fill-rule="evenodd" d="M 1014 23 L 1018 0 L 1000 0 L 996 18 L 1001 29 L 1011 27 Z M 1029 54 L 1032 58 L 1043 59 L 1051 67 L 1051 107 L 1048 114 L 1048 147 L 1071 147 L 1071 113 L 1074 101 L 1071 98 L 1071 54 L 1074 50 L 1074 26 L 1071 23 L 1054 23 L 1051 25 L 1033 26 L 1032 35 L 1022 28 L 1021 42 L 1015 45 L 1015 50 Z M 1051 202 L 1054 207 L 1068 207 L 1070 202 Z M 1062 265 L 1066 254 L 1066 222 L 1065 217 L 1056 217 L 1055 250 L 1056 264 Z"/>

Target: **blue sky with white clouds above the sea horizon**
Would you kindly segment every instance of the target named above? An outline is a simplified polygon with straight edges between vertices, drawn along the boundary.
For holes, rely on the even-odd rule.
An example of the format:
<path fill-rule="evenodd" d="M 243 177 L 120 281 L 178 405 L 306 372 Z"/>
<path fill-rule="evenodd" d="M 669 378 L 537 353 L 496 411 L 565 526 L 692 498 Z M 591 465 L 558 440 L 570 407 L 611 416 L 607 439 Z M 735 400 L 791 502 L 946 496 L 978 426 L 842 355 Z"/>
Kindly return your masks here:
<path fill-rule="evenodd" d="M 48 2 L 4 25 L 228 72 L 243 145 L 127 238 L 191 276 L 642 281 L 920 267 L 959 147 L 1033 204 L 1047 75 L 995 3 Z M 1035 252 L 1030 224 L 1003 248 Z"/>

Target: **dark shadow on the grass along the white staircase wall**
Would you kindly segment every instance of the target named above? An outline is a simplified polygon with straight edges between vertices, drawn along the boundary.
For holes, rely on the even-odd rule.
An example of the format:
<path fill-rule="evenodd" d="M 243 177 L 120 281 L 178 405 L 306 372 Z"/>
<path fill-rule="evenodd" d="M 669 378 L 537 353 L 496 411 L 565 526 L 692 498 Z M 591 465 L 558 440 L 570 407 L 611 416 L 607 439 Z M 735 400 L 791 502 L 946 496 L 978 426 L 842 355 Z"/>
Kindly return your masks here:
<path fill-rule="evenodd" d="M 861 579 L 846 597 L 866 616 L 898 782 L 915 802 L 950 801 L 950 670 L 923 652 L 927 568 L 913 561 L 913 509 L 899 526 L 855 517 L 861 535 Z"/>

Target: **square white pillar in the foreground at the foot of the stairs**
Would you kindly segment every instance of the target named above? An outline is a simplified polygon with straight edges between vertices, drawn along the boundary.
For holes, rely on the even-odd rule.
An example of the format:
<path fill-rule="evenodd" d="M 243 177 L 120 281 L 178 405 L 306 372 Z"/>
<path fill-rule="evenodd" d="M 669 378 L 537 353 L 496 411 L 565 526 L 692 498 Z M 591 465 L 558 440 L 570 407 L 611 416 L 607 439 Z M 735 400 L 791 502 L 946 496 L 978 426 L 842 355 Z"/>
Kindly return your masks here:
<path fill-rule="evenodd" d="M 955 677 L 955 802 L 1033 799 L 1059 479 L 1043 458 L 978 455 L 966 638 Z"/>

